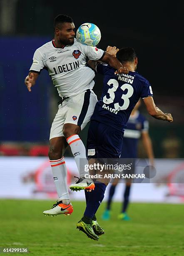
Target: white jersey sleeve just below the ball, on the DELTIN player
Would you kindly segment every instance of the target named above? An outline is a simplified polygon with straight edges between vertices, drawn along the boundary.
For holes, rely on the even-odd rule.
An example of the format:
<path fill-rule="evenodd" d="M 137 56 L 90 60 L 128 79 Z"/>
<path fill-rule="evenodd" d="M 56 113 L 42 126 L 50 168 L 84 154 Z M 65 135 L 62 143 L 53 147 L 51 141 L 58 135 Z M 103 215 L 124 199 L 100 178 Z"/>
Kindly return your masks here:
<path fill-rule="evenodd" d="M 81 44 L 80 47 L 82 47 L 82 50 L 84 51 L 85 55 L 90 59 L 90 60 L 100 60 L 103 58 L 105 52 L 101 49 L 98 49 L 96 46 L 87 46 L 84 44 Z"/>

